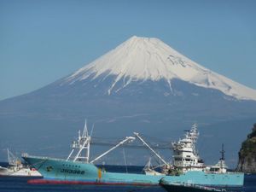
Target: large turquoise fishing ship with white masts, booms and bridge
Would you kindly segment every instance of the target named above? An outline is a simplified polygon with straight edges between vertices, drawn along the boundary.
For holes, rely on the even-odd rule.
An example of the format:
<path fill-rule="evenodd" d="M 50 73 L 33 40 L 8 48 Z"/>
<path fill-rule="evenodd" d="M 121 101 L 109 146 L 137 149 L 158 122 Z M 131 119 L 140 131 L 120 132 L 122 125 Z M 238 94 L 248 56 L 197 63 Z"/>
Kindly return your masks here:
<path fill-rule="evenodd" d="M 38 157 L 23 154 L 22 157 L 32 167 L 40 172 L 44 179 L 34 179 L 29 183 L 68 183 L 68 184 L 102 184 L 102 185 L 159 185 L 160 179 L 166 184 L 188 183 L 212 187 L 241 187 L 244 182 L 244 174 L 241 172 L 214 172 L 211 167 L 204 165 L 195 150 L 195 143 L 199 133 L 197 126 L 186 131 L 183 139 L 172 143 L 173 164 L 167 163 L 164 158 L 157 154 L 138 133 L 135 137 L 125 137 L 105 153 L 94 160 L 90 160 L 90 141 L 87 125 L 84 125 L 82 134 L 79 131 L 77 141 L 73 141 L 72 151 L 66 160 L 49 157 Z M 96 160 L 118 148 L 124 143 L 131 143 L 138 139 L 146 146 L 163 165 L 159 174 L 151 169 L 144 174 L 106 172 L 95 166 Z M 73 155 L 75 154 L 75 155 Z"/>

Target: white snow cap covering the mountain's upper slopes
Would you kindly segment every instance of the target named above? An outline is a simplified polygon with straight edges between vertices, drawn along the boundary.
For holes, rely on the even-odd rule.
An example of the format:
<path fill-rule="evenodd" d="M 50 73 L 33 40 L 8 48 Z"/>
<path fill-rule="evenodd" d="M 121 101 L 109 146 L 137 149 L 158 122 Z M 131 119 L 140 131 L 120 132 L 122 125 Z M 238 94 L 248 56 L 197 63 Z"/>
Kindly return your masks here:
<path fill-rule="evenodd" d="M 172 90 L 172 79 L 181 79 L 197 86 L 220 90 L 236 99 L 256 100 L 256 90 L 200 66 L 157 38 L 129 38 L 67 77 L 65 84 L 74 84 L 89 77 L 96 79 L 100 75 L 115 77 L 108 94 L 119 80 L 124 82 L 125 87 L 137 80 L 166 79 Z"/>

